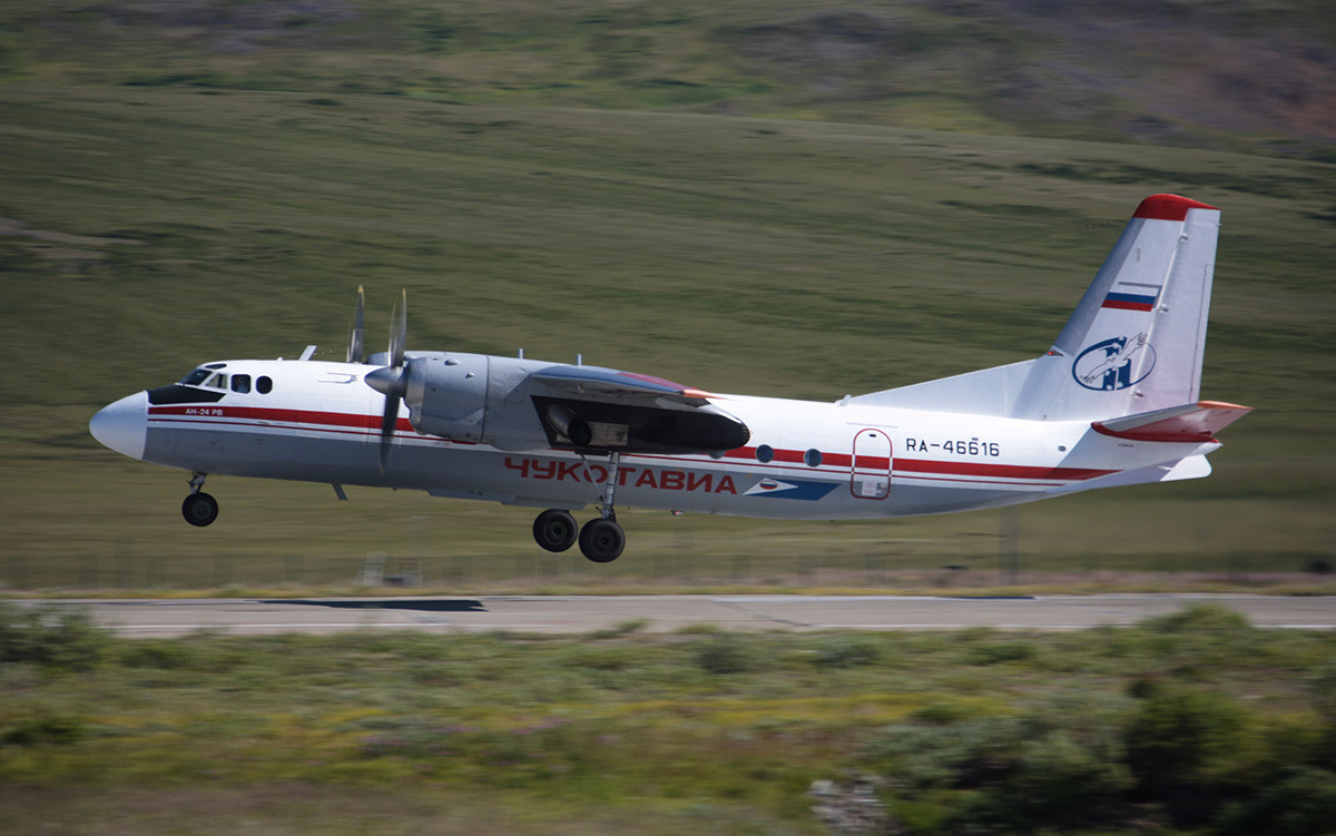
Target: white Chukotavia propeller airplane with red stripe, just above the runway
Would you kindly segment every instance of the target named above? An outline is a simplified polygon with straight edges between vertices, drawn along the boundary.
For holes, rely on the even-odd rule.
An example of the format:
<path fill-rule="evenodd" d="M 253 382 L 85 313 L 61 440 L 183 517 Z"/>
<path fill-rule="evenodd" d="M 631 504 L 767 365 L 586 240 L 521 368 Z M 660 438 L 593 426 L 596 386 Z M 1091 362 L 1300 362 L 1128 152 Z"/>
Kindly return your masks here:
<path fill-rule="evenodd" d="M 389 350 L 346 362 L 206 362 L 90 422 L 107 447 L 191 474 L 424 490 L 541 507 L 533 537 L 595 562 L 625 546 L 616 507 L 856 519 L 999 507 L 1201 478 L 1246 406 L 1200 401 L 1220 210 L 1152 195 L 1041 357 L 834 402 L 713 394 L 617 369 Z M 407 417 L 401 417 L 401 405 Z M 593 506 L 576 525 L 572 511 Z"/>

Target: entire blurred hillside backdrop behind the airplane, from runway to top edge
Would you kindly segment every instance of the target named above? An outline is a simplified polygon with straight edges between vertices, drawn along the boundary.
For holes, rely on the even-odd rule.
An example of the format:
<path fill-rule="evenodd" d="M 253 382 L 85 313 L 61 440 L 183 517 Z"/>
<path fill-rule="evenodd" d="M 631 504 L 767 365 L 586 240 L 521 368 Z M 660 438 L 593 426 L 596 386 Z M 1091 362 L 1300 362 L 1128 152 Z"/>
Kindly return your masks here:
<path fill-rule="evenodd" d="M 1137 202 L 1224 210 L 1204 481 L 778 524 L 188 474 L 102 405 L 227 358 L 410 349 L 836 399 L 1043 351 Z M 1331 589 L 1336 16 L 1236 3 L 0 8 L 0 586 Z M 377 574 L 378 573 L 378 574 Z"/>

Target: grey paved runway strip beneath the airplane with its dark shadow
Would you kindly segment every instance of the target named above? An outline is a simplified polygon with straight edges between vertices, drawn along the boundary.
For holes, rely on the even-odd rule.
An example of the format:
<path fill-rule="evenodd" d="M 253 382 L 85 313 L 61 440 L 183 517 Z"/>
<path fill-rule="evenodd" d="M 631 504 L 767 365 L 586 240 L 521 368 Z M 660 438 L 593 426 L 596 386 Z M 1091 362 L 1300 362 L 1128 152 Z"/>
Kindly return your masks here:
<path fill-rule="evenodd" d="M 724 630 L 1078 630 L 1129 625 L 1198 602 L 1228 606 L 1267 628 L 1336 629 L 1336 597 L 1104 594 L 1015 598 L 908 596 L 477 596 L 386 598 L 41 600 L 77 606 L 122 636 L 170 637 L 428 630 L 592 633 L 643 620 L 669 633 Z"/>

